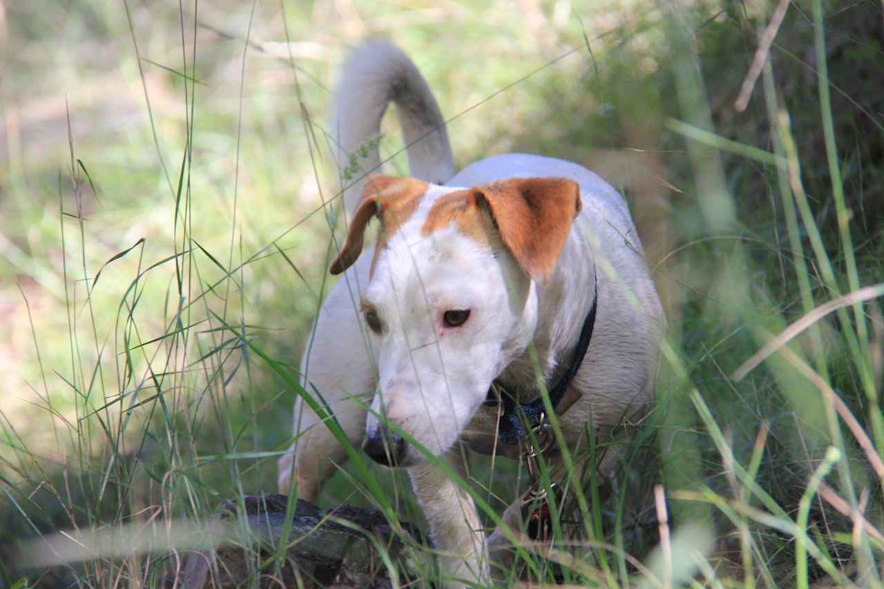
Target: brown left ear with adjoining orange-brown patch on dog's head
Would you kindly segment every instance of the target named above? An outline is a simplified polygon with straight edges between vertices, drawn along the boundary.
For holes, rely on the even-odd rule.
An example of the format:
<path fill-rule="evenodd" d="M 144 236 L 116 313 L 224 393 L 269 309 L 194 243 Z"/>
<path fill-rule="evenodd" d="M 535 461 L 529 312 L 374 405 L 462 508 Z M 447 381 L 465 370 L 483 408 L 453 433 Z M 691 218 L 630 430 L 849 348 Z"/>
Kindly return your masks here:
<path fill-rule="evenodd" d="M 374 272 L 378 253 L 414 214 L 417 203 L 428 187 L 429 184 L 416 178 L 393 178 L 381 174 L 369 176 L 365 181 L 365 187 L 362 188 L 359 203 L 356 204 L 356 211 L 347 232 L 347 241 L 331 262 L 329 272 L 331 274 L 344 272 L 359 258 L 362 254 L 365 228 L 369 225 L 369 221 L 377 216 L 381 220 L 381 231 L 377 235 L 375 256 L 371 261 L 371 272 Z"/>

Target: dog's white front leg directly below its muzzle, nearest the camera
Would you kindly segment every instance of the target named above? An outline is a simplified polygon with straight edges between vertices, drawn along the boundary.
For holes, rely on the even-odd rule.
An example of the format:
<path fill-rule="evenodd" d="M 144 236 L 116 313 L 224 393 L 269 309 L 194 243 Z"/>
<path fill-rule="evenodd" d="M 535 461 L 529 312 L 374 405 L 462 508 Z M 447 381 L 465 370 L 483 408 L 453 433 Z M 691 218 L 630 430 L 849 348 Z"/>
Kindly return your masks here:
<path fill-rule="evenodd" d="M 461 474 L 458 461 L 446 462 Z M 442 570 L 452 579 L 446 587 L 464 587 L 464 581 L 487 583 L 488 550 L 476 504 L 469 491 L 431 463 L 415 466 L 408 474 L 417 501 L 430 524 L 431 537 L 441 554 Z"/>

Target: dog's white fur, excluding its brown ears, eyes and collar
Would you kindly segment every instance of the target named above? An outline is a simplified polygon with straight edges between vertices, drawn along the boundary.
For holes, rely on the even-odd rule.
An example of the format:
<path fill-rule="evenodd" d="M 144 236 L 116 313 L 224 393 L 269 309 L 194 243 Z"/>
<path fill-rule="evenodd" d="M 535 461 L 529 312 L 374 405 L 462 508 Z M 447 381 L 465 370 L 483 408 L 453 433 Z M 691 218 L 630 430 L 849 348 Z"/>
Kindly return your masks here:
<path fill-rule="evenodd" d="M 350 109 L 339 119 L 352 121 L 356 129 L 346 135 L 347 145 L 359 135 L 377 132 L 379 113 L 389 95 L 372 87 L 362 103 L 357 100 L 352 91 L 358 84 L 348 78 L 359 78 L 353 64 L 364 65 L 374 80 L 386 80 L 385 67 L 406 67 L 403 59 L 408 62 L 398 50 L 378 43 L 351 59 L 339 91 L 347 96 L 339 96 L 338 101 L 339 108 L 347 103 Z M 425 83 L 415 82 L 423 80 L 410 62 L 406 69 L 408 80 L 414 82 L 408 92 L 429 93 Z M 434 104 L 431 96 L 420 96 L 417 102 Z M 443 147 L 437 142 L 430 150 L 434 157 L 443 154 L 441 160 L 418 163 L 415 152 L 409 152 L 413 171 L 449 168 L 450 149 L 443 140 Z M 423 235 L 423 221 L 438 196 L 458 187 L 530 177 L 575 180 L 583 200 L 583 210 L 545 286 L 522 272 L 506 249 L 480 246 L 454 225 Z M 573 384 L 582 396 L 559 417 L 562 431 L 566 440 L 575 443 L 591 418 L 598 436 L 604 438 L 624 416 L 651 402 L 663 328 L 659 299 L 626 203 L 583 167 L 521 154 L 470 164 L 448 179 L 446 187 L 432 186 L 423 196 L 415 214 L 378 256 L 369 280 L 372 256 L 373 251 L 364 252 L 331 288 L 302 361 L 305 379 L 331 403 L 354 444 L 361 444 L 366 432 L 374 432 L 383 410 L 386 419 L 409 438 L 455 468 L 461 466 L 458 440 L 492 447 L 496 409 L 482 406 L 492 380 L 510 386 L 533 382 L 535 364 L 529 350 L 533 344 L 546 381 L 554 382 L 561 365 L 570 362 L 596 278 L 595 330 Z M 385 325 L 380 336 L 367 336 L 368 330 L 361 327 L 360 299 L 377 310 Z M 453 309 L 471 310 L 461 328 L 442 324 L 442 314 Z M 366 412 L 351 395 L 370 391 L 376 394 Z M 299 402 L 295 432 L 302 436 L 279 461 L 280 489 L 285 491 L 293 478 L 298 494 L 306 499 L 316 498 L 319 485 L 334 468 L 332 462 L 344 457 L 339 444 L 317 422 L 316 415 Z M 512 448 L 504 449 L 512 453 Z M 606 455 L 603 471 L 615 468 L 614 455 Z M 408 447 L 404 465 L 437 546 L 449 554 L 446 570 L 453 578 L 485 580 L 488 546 L 484 534 L 476 532 L 479 520 L 469 493 L 433 468 L 414 447 Z"/>

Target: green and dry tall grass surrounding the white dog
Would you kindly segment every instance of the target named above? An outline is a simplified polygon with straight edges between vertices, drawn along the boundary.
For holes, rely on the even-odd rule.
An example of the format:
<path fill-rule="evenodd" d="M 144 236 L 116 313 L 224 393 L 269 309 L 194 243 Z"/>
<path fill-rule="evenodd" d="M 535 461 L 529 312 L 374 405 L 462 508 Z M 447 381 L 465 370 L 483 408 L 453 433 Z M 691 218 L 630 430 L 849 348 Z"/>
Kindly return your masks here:
<path fill-rule="evenodd" d="M 415 57 L 459 164 L 530 151 L 621 187 L 667 306 L 621 477 L 591 427 L 541 461 L 570 490 L 555 546 L 513 535 L 501 583 L 882 584 L 880 4 L 3 6 L 0 586 L 163 585 L 219 501 L 275 490 L 294 399 L 326 413 L 296 370 L 339 242 L 324 112 L 370 32 Z M 325 424 L 349 463 L 321 502 L 422 524 Z M 525 486 L 427 458 L 489 530 Z"/>

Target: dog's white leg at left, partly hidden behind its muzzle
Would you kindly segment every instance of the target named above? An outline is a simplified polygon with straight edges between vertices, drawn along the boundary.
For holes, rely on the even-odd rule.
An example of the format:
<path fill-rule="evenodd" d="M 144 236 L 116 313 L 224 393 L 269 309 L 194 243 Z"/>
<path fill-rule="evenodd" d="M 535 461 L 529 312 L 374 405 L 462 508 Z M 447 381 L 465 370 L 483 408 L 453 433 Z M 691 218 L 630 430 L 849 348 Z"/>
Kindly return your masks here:
<path fill-rule="evenodd" d="M 301 359 L 301 384 L 326 412 L 331 409 L 350 442 L 361 447 L 375 379 L 370 349 L 362 336 L 362 319 L 350 295 L 351 287 L 356 286 L 352 279 L 339 280 L 319 311 Z M 290 486 L 297 485 L 301 499 L 316 501 L 320 487 L 347 452 L 300 397 L 294 407 L 293 431 L 292 447 L 278 461 L 279 493 L 288 493 Z"/>

